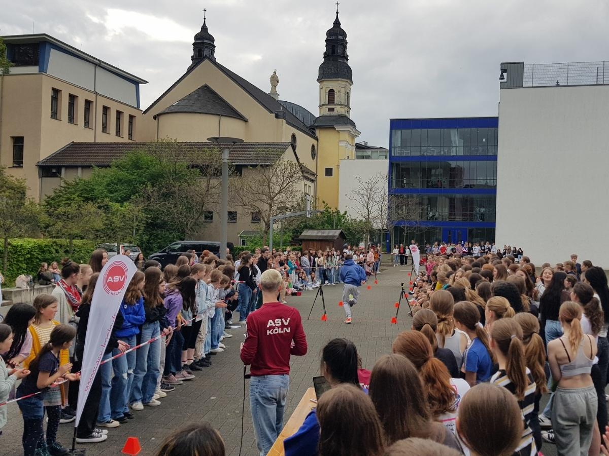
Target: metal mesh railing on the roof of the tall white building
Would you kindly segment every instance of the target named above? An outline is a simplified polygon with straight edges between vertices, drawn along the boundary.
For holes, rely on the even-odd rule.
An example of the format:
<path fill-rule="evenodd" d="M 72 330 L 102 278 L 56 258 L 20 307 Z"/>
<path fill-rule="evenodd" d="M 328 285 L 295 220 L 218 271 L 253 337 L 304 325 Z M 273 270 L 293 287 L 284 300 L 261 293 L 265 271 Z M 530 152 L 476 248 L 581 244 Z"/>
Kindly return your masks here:
<path fill-rule="evenodd" d="M 524 87 L 609 84 L 609 61 L 524 65 Z"/>

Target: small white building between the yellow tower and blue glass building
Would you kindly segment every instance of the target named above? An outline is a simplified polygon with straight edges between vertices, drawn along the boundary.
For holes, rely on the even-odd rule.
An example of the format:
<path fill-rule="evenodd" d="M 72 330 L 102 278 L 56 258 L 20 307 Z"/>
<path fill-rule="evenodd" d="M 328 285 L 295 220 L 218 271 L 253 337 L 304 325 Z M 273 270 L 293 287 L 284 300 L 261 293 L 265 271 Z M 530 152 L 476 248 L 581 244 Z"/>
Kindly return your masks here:
<path fill-rule="evenodd" d="M 375 196 L 387 200 L 387 176 L 389 175 L 389 150 L 384 147 L 358 142 L 355 145 L 355 159 L 343 159 L 339 167 L 339 210 L 347 211 L 354 218 L 362 218 L 361 204 L 350 196 L 361 184 L 373 179 Z M 372 182 L 372 181 L 371 181 Z"/>

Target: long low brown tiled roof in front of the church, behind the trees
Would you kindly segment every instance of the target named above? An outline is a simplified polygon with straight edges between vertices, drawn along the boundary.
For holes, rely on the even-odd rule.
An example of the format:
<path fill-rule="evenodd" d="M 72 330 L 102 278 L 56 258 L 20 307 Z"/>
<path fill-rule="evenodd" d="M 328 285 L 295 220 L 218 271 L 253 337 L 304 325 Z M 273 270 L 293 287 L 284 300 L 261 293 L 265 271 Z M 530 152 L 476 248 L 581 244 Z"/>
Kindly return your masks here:
<path fill-rule="evenodd" d="M 202 149 L 217 148 L 211 142 L 178 142 L 186 154 Z M 230 148 L 229 160 L 234 165 L 270 165 L 283 156 L 289 142 L 243 142 Z M 38 166 L 107 167 L 130 151 L 146 147 L 146 143 L 133 142 L 71 142 L 38 162 Z M 185 157 L 185 161 L 187 157 Z"/>

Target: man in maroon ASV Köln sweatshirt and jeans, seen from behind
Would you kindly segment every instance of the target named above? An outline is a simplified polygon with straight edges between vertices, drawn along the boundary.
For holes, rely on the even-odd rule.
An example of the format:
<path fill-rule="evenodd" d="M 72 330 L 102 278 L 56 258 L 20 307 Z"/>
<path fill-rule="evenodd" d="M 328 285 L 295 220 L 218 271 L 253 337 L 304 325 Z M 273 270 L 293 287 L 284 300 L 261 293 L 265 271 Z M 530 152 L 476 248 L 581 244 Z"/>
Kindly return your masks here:
<path fill-rule="evenodd" d="M 247 336 L 241 344 L 241 361 L 250 365 L 250 409 L 261 456 L 273 446 L 283 427 L 290 355 L 303 356 L 307 344 L 298 311 L 277 302 L 283 286 L 281 274 L 267 269 L 260 278 L 262 307 L 247 316 Z"/>

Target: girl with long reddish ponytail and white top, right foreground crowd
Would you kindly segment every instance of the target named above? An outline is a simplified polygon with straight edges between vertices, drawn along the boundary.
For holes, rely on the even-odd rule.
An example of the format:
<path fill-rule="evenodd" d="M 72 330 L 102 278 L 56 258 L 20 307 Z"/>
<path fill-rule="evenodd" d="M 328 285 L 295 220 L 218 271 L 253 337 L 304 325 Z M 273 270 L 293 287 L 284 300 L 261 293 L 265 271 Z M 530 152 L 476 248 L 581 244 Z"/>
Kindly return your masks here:
<path fill-rule="evenodd" d="M 442 361 L 434 358 L 428 338 L 418 331 L 398 334 L 393 340 L 393 353 L 403 354 L 415 365 L 431 415 L 454 434 L 457 407 L 470 385 L 461 378 L 451 378 Z"/>

